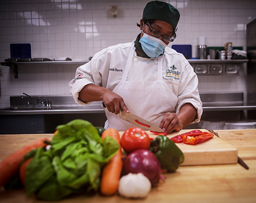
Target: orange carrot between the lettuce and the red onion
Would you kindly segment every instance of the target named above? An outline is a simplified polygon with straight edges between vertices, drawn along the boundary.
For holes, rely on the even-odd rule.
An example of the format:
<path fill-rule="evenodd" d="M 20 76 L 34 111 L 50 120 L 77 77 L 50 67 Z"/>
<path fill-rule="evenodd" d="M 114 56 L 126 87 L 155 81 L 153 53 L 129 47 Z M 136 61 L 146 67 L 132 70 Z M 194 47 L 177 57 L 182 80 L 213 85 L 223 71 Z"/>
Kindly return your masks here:
<path fill-rule="evenodd" d="M 101 139 L 110 136 L 114 138 L 120 145 L 120 135 L 114 128 L 104 130 Z M 100 192 L 103 195 L 113 195 L 116 193 L 119 185 L 119 179 L 122 171 L 122 150 L 119 148 L 118 152 L 111 158 L 102 171 Z"/>

